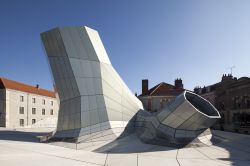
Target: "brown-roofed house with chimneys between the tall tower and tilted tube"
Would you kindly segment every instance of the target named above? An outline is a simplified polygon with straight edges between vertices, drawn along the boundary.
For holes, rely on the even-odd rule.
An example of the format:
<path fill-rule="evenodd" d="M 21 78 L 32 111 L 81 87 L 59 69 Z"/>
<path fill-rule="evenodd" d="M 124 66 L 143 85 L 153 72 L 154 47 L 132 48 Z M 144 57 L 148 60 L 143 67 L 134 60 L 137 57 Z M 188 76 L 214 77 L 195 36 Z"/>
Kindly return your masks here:
<path fill-rule="evenodd" d="M 172 102 L 184 90 L 181 79 L 176 79 L 174 85 L 161 82 L 151 89 L 148 88 L 148 80 L 146 79 L 142 80 L 142 93 L 138 98 L 146 110 L 157 112 Z"/>

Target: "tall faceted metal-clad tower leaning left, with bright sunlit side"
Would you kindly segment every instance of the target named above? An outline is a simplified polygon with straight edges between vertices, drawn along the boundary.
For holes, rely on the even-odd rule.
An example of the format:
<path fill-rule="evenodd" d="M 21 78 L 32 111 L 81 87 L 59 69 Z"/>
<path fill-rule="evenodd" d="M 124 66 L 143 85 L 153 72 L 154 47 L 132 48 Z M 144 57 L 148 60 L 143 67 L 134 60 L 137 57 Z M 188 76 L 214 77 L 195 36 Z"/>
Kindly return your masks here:
<path fill-rule="evenodd" d="M 143 106 L 112 67 L 97 31 L 55 28 L 41 38 L 60 100 L 54 139 L 93 143 L 134 127 L 127 124 Z"/>

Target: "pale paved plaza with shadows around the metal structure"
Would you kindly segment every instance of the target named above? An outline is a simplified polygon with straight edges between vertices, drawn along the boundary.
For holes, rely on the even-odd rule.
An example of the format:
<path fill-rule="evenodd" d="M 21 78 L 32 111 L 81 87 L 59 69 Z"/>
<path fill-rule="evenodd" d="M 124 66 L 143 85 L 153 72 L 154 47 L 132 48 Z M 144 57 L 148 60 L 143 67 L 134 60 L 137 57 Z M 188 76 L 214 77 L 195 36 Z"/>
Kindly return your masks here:
<path fill-rule="evenodd" d="M 75 150 L 36 138 L 42 133 L 0 131 L 1 166 L 248 166 L 250 136 L 213 131 L 213 145 L 173 149 L 142 143 L 135 135 L 104 147 Z"/>

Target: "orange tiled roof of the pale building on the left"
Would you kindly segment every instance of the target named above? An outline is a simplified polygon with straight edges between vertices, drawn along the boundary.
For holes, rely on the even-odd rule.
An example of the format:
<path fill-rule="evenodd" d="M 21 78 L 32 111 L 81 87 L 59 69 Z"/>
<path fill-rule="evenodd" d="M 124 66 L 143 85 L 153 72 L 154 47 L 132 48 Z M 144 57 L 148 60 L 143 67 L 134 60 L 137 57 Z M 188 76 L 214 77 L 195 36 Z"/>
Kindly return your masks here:
<path fill-rule="evenodd" d="M 0 89 L 13 89 L 55 98 L 55 92 L 0 77 Z"/>

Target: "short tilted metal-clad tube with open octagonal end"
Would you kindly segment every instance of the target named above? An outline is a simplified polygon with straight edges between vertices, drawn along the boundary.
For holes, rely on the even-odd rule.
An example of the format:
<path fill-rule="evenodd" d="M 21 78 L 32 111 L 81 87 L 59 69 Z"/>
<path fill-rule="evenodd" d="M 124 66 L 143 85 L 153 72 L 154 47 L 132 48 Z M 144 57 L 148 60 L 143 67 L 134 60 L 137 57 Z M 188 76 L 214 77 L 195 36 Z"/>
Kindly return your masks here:
<path fill-rule="evenodd" d="M 139 112 L 137 133 L 147 143 L 181 147 L 200 135 L 210 135 L 207 129 L 218 118 L 220 114 L 212 104 L 197 94 L 185 91 L 160 112 Z"/>

